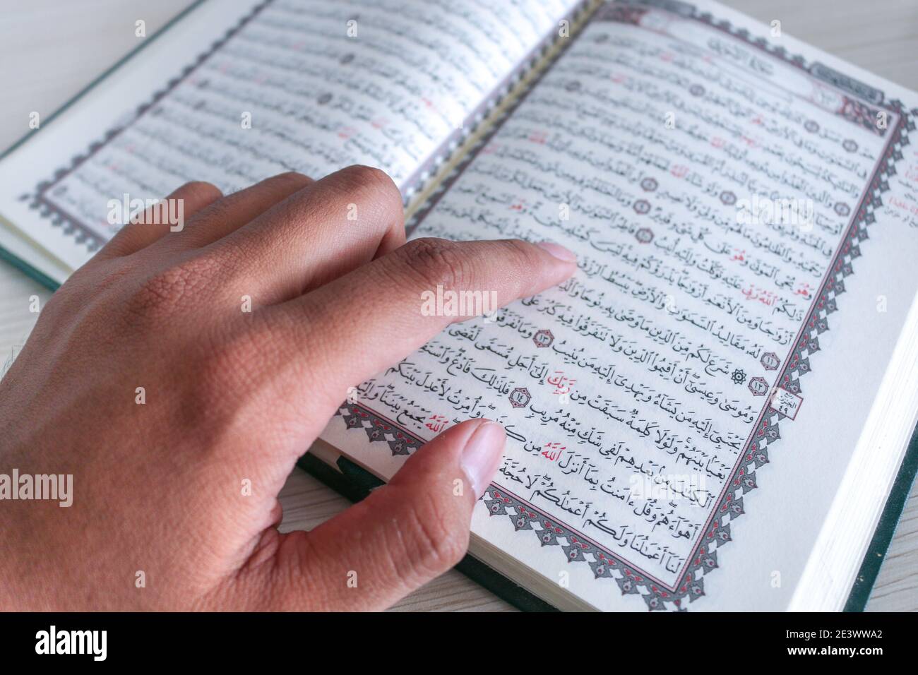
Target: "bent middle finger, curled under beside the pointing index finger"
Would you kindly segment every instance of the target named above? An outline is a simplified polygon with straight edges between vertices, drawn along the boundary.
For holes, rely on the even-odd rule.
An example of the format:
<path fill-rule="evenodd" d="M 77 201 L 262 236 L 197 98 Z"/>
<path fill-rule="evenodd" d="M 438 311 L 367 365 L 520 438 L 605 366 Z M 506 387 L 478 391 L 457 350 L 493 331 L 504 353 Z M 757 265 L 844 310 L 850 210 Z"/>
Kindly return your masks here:
<path fill-rule="evenodd" d="M 349 166 L 214 244 L 259 304 L 295 298 L 405 242 L 402 197 L 384 172 Z M 252 287 L 257 283 L 258 287 Z"/>

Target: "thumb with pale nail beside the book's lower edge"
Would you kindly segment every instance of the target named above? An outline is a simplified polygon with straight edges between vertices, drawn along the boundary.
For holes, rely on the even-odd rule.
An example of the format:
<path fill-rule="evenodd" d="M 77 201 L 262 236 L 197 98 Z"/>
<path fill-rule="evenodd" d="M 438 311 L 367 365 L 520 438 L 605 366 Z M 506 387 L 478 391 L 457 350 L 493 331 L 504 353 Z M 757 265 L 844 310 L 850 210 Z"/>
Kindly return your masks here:
<path fill-rule="evenodd" d="M 272 607 L 382 610 L 452 568 L 504 442 L 497 422 L 457 424 L 364 501 L 311 532 L 286 534 L 268 579 Z"/>

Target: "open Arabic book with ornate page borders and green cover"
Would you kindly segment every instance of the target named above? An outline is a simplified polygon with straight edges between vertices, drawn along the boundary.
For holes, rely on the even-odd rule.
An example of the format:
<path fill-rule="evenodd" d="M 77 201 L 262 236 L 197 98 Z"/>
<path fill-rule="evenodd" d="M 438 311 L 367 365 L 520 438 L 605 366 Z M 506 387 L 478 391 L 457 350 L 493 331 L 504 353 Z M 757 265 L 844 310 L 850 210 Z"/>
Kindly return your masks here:
<path fill-rule="evenodd" d="M 555 607 L 841 609 L 914 471 L 916 108 L 707 0 L 204 2 L 7 153 L 0 246 L 62 282 L 112 199 L 351 163 L 411 236 L 563 243 L 311 453 L 385 480 L 488 417 L 470 553 Z"/>

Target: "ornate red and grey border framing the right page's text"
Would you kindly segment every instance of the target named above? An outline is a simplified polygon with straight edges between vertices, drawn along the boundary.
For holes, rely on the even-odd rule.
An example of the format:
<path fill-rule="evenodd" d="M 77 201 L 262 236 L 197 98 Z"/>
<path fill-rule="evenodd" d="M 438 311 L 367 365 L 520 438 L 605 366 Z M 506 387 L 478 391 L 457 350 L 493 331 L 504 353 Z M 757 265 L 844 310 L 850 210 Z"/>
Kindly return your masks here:
<path fill-rule="evenodd" d="M 868 239 L 868 225 L 876 220 L 874 213 L 882 206 L 882 193 L 889 190 L 888 180 L 896 174 L 895 163 L 901 160 L 902 149 L 909 144 L 908 132 L 915 129 L 914 117 L 918 116 L 918 109 L 909 111 L 901 101 L 887 101 L 879 89 L 839 73 L 820 62 L 807 63 L 801 55 L 791 55 L 783 47 L 770 44 L 767 39 L 754 38 L 745 28 L 733 27 L 729 21 L 715 19 L 711 13 L 700 12 L 697 6 L 680 0 L 616 0 L 601 6 L 589 20 L 637 25 L 644 13 L 650 9 L 665 10 L 680 17 L 700 21 L 799 68 L 844 95 L 845 105 L 839 111 L 844 118 L 861 124 L 880 136 L 889 134 L 885 151 L 874 167 L 868 188 L 857 205 L 847 231 L 839 241 L 833 262 L 829 265 L 807 317 L 800 326 L 795 343 L 776 379 L 776 385 L 767 392 L 766 402 L 759 413 L 754 430 L 746 440 L 744 450 L 734 465 L 730 478 L 724 483 L 717 506 L 711 510 L 703 532 L 674 586 L 670 587 L 654 579 L 644 570 L 599 546 L 586 535 L 558 521 L 508 489 L 492 483 L 482 497 L 481 501 L 491 516 L 508 517 L 516 532 L 532 531 L 539 537 L 542 546 L 560 546 L 568 562 L 586 561 L 596 579 L 614 579 L 622 595 L 640 593 L 649 611 L 685 611 L 688 604 L 685 602 L 686 599 L 694 602 L 705 594 L 705 577 L 718 568 L 718 548 L 732 541 L 731 525 L 744 514 L 744 496 L 757 488 L 756 470 L 768 463 L 770 446 L 780 439 L 779 422 L 784 419 L 792 421 L 797 415 L 802 402 L 800 376 L 810 372 L 810 357 L 820 350 L 819 335 L 829 330 L 828 315 L 838 309 L 836 298 L 845 292 L 845 278 L 853 274 L 853 261 L 861 254 L 861 242 Z M 573 43 L 573 39 L 568 43 L 568 47 L 570 43 Z M 454 168 L 453 173 L 442 181 L 429 201 L 409 221 L 409 227 L 416 227 L 431 212 L 443 194 L 472 162 L 477 152 L 487 145 L 544 73 L 545 71 L 533 80 L 527 91 L 495 121 L 494 126 L 476 143 L 475 148 L 471 149 L 463 161 Z M 877 129 L 874 120 L 877 119 L 879 109 L 895 115 L 896 124 L 888 129 Z M 839 215 L 846 214 L 840 212 Z M 425 443 L 419 436 L 410 433 L 396 422 L 358 403 L 345 402 L 337 414 L 341 415 L 347 428 L 364 429 L 371 442 L 386 442 L 393 455 L 409 455 Z"/>

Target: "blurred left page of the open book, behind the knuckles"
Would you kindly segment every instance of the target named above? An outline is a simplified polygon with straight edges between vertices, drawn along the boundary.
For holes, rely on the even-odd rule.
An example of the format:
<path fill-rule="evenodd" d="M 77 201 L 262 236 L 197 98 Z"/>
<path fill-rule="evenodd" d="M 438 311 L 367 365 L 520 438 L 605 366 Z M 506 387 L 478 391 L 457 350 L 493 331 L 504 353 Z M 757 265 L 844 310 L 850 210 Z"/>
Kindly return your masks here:
<path fill-rule="evenodd" d="M 321 176 L 364 163 L 409 197 L 580 4 L 209 3 L 199 11 L 211 19 L 244 13 L 204 51 L 186 30 L 177 39 L 194 40 L 195 56 L 180 69 L 141 54 L 140 67 L 168 68 L 160 77 L 171 79 L 154 89 L 158 78 L 137 73 L 105 89 L 79 111 L 103 116 L 104 132 L 60 127 L 78 151 L 58 150 L 58 125 L 41 129 L 40 147 L 30 142 L 0 166 L 0 212 L 76 265 L 121 226 L 109 200 L 160 198 L 189 180 L 229 193 L 285 171 Z M 119 103 L 139 88 L 139 105 Z M 61 231 L 84 245 L 62 249 Z"/>

